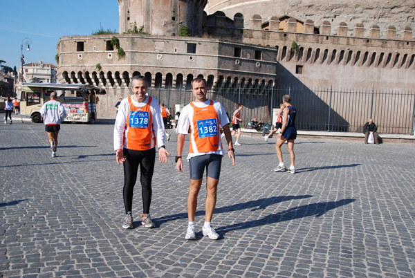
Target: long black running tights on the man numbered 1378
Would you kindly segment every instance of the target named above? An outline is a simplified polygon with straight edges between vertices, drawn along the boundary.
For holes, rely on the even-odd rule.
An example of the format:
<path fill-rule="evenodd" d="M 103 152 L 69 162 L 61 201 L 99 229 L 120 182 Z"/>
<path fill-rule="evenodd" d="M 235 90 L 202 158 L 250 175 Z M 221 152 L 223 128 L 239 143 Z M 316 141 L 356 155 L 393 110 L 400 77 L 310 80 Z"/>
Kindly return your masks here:
<path fill-rule="evenodd" d="M 149 214 L 151 203 L 151 180 L 154 172 L 154 160 L 156 159 L 156 148 L 147 151 L 135 151 L 124 149 L 124 197 L 125 214 L 131 212 L 133 207 L 133 189 L 136 185 L 138 166 L 140 166 L 140 182 L 143 213 Z"/>

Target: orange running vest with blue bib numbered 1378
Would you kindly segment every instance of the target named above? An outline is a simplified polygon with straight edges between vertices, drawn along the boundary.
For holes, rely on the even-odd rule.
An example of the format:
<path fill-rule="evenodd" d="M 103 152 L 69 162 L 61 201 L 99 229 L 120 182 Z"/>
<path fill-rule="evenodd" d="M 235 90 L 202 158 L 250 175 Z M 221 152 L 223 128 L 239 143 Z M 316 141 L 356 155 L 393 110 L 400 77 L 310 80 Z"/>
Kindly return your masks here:
<path fill-rule="evenodd" d="M 147 96 L 149 100 L 142 107 L 136 107 L 131 98 L 130 95 L 127 129 L 124 131 L 124 148 L 136 151 L 154 148 L 156 147 L 156 135 L 152 127 L 153 117 L 150 110 L 152 98 Z"/>

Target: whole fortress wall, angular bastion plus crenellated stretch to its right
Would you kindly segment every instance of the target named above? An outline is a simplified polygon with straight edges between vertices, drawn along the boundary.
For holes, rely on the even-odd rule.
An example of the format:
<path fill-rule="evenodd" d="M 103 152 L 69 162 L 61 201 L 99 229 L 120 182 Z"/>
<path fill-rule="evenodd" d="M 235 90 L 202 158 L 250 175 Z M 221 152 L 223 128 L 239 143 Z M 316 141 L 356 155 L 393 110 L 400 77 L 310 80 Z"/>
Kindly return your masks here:
<path fill-rule="evenodd" d="M 135 3 L 149 2 L 153 1 Z M 167 10 L 171 11 L 179 2 L 169 3 L 172 6 Z M 122 22 L 128 23 L 122 10 L 125 7 L 120 4 L 120 30 Z M 131 14 L 131 9 L 127 11 Z M 350 31 L 344 22 L 332 26 L 331 20 L 247 18 L 241 13 L 230 19 L 223 12 L 205 14 L 195 22 L 201 37 L 177 37 L 168 32 L 170 35 L 115 35 L 125 51 L 122 59 L 109 47 L 113 35 L 62 37 L 57 46 L 59 82 L 105 89 L 107 95 L 98 103 L 99 118 L 115 117 L 113 105 L 131 93 L 129 80 L 137 74 L 147 77 L 151 89 L 181 90 L 201 76 L 211 89 L 222 90 L 286 84 L 415 90 L 415 41 L 409 26 L 396 30 L 393 24 L 386 29 L 356 24 Z M 297 48 L 292 52 L 293 42 Z M 180 99 L 183 103 L 181 92 L 171 95 L 169 103 L 179 103 Z M 165 101 L 167 96 L 160 98 Z"/>

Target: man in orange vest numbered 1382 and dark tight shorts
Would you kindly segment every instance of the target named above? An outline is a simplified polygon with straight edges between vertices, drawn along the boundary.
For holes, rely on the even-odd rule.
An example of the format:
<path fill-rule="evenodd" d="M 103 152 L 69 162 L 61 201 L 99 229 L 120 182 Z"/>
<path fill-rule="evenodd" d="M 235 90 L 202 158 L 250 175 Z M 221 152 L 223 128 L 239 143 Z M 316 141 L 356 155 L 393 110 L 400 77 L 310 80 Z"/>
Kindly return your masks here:
<path fill-rule="evenodd" d="M 201 189 L 203 172 L 206 168 L 207 196 L 205 203 L 205 223 L 202 228 L 203 236 L 210 239 L 219 239 L 219 234 L 212 228 L 211 221 L 216 205 L 216 188 L 221 174 L 223 154 L 228 153 L 235 165 L 232 136 L 230 135 L 229 119 L 220 102 L 206 98 L 206 81 L 202 78 L 192 80 L 192 93 L 195 100 L 187 104 L 181 111 L 176 127 L 177 156 L 176 169 L 183 172 L 183 160 L 181 158 L 185 136 L 190 126 L 190 150 L 187 155 L 190 169 L 190 188 L 187 196 L 187 216 L 189 224 L 185 239 L 196 239 L 194 216 L 196 214 L 197 196 Z M 223 129 L 228 145 L 222 147 L 219 125 Z M 228 151 L 226 151 L 228 149 Z"/>

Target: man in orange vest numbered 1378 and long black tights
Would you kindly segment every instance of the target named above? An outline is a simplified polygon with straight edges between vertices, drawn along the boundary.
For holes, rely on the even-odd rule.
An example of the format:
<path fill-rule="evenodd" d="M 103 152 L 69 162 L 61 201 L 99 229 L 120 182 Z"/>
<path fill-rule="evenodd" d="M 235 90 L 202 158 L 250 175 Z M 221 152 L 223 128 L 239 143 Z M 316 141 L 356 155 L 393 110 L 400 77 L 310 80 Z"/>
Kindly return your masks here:
<path fill-rule="evenodd" d="M 155 98 L 146 95 L 147 80 L 143 76 L 134 76 L 131 80 L 133 95 L 124 98 L 118 107 L 114 127 L 114 150 L 118 165 L 124 165 L 124 208 L 122 228 L 133 228 L 133 189 L 136 184 L 138 166 L 142 190 L 143 213 L 141 224 L 154 228 L 150 217 L 151 179 L 156 160 L 167 163 L 169 152 L 165 149 L 165 129 L 160 105 Z"/>

